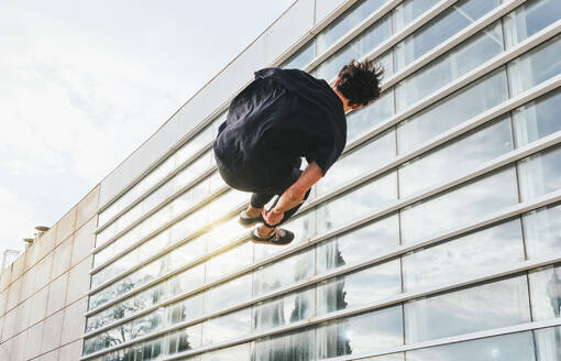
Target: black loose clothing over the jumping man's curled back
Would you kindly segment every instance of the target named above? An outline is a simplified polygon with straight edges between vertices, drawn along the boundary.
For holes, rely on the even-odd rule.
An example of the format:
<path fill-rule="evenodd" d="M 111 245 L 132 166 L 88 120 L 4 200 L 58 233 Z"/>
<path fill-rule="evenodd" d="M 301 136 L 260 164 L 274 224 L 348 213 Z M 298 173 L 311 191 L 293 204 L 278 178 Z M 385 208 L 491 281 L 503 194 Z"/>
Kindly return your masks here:
<path fill-rule="evenodd" d="M 224 180 L 245 192 L 285 189 L 301 157 L 324 175 L 346 142 L 341 99 L 326 80 L 299 69 L 254 75 L 230 103 L 213 144 Z"/>

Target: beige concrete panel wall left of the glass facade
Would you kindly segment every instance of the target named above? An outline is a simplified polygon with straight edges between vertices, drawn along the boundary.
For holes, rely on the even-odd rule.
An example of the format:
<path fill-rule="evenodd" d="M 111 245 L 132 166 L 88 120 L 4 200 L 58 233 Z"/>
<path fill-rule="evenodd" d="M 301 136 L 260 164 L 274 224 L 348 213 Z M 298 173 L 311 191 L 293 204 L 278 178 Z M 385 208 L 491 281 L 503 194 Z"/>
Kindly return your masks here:
<path fill-rule="evenodd" d="M 0 276 L 0 360 L 78 360 L 99 186 Z"/>

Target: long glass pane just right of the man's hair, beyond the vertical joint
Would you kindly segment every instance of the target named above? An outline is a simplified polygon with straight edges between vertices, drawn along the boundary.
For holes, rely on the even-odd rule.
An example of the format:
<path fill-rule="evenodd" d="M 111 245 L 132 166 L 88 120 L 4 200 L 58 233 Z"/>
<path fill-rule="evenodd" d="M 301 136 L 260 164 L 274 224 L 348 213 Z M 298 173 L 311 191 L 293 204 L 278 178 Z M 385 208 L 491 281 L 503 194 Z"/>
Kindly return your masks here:
<path fill-rule="evenodd" d="M 397 112 L 471 72 L 503 48 L 498 21 L 400 81 L 396 86 Z"/>

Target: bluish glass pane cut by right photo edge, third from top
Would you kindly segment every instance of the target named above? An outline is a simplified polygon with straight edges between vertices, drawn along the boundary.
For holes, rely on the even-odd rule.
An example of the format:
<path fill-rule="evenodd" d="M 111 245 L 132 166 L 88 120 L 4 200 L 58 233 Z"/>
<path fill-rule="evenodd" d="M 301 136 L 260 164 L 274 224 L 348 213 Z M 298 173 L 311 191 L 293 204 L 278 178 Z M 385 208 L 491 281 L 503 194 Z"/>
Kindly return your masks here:
<path fill-rule="evenodd" d="M 530 101 L 513 112 L 516 145 L 522 146 L 561 130 L 561 89 Z"/>

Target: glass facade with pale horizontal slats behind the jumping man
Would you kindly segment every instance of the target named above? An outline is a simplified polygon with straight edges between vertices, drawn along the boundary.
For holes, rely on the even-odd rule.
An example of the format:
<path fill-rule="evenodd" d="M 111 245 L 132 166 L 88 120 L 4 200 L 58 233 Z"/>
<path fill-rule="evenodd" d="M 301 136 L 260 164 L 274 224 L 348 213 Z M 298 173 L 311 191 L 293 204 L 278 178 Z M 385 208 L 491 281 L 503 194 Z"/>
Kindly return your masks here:
<path fill-rule="evenodd" d="M 561 360 L 561 6 L 512 2 L 359 0 L 280 65 L 385 68 L 290 245 L 237 222 L 226 112 L 102 208 L 82 360 Z"/>

